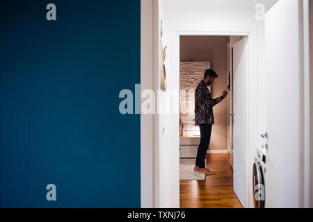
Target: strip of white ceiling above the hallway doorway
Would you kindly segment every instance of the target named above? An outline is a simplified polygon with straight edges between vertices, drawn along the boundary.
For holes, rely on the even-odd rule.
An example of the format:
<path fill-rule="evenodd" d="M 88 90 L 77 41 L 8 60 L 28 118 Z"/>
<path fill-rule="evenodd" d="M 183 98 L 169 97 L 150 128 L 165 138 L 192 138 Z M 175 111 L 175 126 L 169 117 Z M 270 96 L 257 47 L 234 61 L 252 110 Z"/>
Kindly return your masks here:
<path fill-rule="evenodd" d="M 163 4 L 170 8 L 234 8 L 255 9 L 257 3 L 264 4 L 266 10 L 278 0 L 163 0 Z"/>

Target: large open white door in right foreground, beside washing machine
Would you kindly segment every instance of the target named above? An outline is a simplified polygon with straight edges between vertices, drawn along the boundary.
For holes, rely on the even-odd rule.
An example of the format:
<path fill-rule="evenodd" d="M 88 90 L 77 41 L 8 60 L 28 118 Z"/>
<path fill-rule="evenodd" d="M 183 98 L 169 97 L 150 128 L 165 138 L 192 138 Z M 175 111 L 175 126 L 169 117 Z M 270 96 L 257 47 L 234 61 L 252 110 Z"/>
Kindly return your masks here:
<path fill-rule="evenodd" d="M 266 207 L 300 207 L 301 1 L 266 13 Z"/>

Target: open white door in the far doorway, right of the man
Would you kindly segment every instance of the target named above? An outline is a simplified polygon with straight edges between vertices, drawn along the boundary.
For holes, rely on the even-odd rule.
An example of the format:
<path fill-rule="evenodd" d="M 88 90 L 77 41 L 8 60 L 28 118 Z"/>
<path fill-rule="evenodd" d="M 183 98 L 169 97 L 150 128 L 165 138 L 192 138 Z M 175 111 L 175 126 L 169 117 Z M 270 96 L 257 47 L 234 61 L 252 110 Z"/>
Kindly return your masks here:
<path fill-rule="evenodd" d="M 234 44 L 233 55 L 234 192 L 241 205 L 246 207 L 248 37 Z"/>

